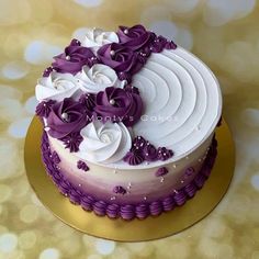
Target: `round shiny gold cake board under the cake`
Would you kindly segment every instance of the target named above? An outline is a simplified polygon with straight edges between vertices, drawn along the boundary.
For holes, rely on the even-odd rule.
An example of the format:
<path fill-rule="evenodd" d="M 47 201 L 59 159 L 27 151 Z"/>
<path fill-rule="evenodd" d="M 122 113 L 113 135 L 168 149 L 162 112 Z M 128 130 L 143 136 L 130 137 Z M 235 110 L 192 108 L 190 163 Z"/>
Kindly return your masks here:
<path fill-rule="evenodd" d="M 223 121 L 216 130 L 218 155 L 210 178 L 195 196 L 183 206 L 157 217 L 124 221 L 99 217 L 74 205 L 61 195 L 47 176 L 41 158 L 42 124 L 34 117 L 25 139 L 24 161 L 27 179 L 41 202 L 67 225 L 92 236 L 119 240 L 144 241 L 182 232 L 204 218 L 223 199 L 235 167 L 235 148 L 232 133 Z"/>

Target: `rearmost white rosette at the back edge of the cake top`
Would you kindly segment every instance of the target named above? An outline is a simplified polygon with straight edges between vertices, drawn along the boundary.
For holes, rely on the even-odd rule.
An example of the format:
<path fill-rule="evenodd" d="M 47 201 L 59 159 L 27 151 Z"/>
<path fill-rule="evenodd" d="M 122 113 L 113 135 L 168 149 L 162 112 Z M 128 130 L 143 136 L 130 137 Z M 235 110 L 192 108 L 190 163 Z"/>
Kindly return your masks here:
<path fill-rule="evenodd" d="M 82 41 L 82 46 L 90 47 L 93 52 L 97 52 L 98 48 L 109 43 L 119 43 L 116 33 L 104 32 L 102 29 L 89 29 Z"/>

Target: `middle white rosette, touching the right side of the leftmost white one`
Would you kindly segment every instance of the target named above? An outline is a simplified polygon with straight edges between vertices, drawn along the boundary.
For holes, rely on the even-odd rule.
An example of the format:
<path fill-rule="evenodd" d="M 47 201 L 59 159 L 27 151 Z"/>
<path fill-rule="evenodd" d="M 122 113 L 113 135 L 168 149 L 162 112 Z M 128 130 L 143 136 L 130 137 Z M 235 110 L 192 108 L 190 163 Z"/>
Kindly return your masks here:
<path fill-rule="evenodd" d="M 91 68 L 83 66 L 76 75 L 78 85 L 82 91 L 98 93 L 106 87 L 121 86 L 116 72 L 109 66 L 95 64 Z"/>

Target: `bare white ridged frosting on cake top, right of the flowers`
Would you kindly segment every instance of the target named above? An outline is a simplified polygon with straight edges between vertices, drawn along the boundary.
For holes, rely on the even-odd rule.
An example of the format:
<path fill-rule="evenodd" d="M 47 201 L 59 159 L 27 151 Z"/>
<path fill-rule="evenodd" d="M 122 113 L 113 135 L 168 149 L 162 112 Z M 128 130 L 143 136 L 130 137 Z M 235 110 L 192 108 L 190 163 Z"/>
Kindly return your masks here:
<path fill-rule="evenodd" d="M 222 94 L 212 71 L 178 47 L 151 54 L 133 77 L 145 103 L 144 120 L 134 125 L 155 146 L 173 150 L 177 160 L 199 147 L 214 131 L 222 113 Z"/>

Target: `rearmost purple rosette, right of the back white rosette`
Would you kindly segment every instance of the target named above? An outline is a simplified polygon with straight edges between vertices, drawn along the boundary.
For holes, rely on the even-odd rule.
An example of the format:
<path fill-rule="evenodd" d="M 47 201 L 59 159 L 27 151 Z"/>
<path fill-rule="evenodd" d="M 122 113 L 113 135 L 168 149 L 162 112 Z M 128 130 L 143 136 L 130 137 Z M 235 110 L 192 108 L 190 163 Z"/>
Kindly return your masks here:
<path fill-rule="evenodd" d="M 143 25 L 133 27 L 120 26 L 117 31 L 120 43 L 133 50 L 140 49 L 155 38 L 155 33 L 148 32 Z"/>

